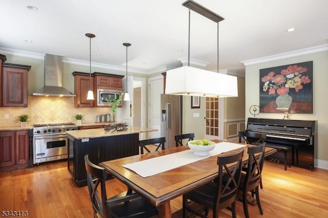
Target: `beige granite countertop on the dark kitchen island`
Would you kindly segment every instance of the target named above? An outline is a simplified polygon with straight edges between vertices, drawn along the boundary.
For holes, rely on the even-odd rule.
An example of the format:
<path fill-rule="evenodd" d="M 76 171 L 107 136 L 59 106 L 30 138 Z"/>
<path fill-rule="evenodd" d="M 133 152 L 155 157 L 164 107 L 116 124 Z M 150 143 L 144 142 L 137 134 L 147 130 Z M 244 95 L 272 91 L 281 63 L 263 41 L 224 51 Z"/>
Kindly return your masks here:
<path fill-rule="evenodd" d="M 71 130 L 66 131 L 68 136 L 71 136 L 75 139 L 88 139 L 88 138 L 99 138 L 99 137 L 107 137 L 107 136 L 120 136 L 120 135 L 128 135 L 135 133 L 148 133 L 158 131 L 158 129 L 146 128 L 146 127 L 134 127 L 130 126 L 126 130 L 115 131 L 114 129 L 106 132 L 104 128 L 93 128 L 93 129 L 82 129 L 82 130 Z"/>

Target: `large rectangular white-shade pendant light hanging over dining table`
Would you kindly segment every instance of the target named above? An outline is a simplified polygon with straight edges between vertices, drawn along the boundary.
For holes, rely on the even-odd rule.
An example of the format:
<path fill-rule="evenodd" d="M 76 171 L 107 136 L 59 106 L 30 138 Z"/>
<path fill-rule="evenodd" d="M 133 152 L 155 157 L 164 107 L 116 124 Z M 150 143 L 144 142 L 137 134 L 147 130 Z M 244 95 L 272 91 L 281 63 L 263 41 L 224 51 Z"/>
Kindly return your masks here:
<path fill-rule="evenodd" d="M 165 94 L 200 97 L 237 97 L 237 77 L 189 66 L 190 10 L 193 10 L 198 14 L 211 19 L 217 23 L 217 28 L 219 21 L 223 20 L 224 18 L 192 0 L 188 0 L 182 3 L 182 5 L 189 8 L 188 66 L 183 66 L 167 71 Z M 177 81 L 181 81 L 181 83 L 177 85 Z"/>

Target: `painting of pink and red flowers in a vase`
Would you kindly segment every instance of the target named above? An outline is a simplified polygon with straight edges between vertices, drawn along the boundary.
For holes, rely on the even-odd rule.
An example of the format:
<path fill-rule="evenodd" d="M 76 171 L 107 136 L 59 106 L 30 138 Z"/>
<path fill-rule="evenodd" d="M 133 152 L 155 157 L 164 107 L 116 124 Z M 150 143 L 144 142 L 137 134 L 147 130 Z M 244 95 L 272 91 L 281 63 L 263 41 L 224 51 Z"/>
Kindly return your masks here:
<path fill-rule="evenodd" d="M 312 114 L 313 61 L 260 70 L 260 112 Z"/>

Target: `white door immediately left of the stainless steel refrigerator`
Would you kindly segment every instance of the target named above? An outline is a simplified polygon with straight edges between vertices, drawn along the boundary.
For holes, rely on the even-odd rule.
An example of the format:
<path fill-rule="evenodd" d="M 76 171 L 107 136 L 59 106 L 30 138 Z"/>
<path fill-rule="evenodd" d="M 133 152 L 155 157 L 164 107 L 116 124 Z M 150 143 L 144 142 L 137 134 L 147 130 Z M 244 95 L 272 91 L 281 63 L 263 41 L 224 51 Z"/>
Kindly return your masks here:
<path fill-rule="evenodd" d="M 161 109 L 160 109 L 160 94 L 163 94 L 163 77 L 153 77 L 148 80 L 148 126 L 149 128 L 158 129 L 158 131 L 150 132 L 149 138 L 160 137 L 161 125 Z"/>

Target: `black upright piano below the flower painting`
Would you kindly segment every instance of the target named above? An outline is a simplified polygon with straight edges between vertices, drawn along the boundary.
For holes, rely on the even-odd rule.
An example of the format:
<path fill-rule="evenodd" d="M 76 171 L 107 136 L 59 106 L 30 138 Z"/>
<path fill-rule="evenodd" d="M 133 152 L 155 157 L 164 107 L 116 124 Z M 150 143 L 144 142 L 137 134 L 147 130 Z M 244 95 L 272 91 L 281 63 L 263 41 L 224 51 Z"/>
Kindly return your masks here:
<path fill-rule="evenodd" d="M 311 171 L 314 169 L 314 150 L 317 147 L 316 120 L 248 118 L 245 131 L 265 134 L 265 141 L 268 144 L 293 146 L 293 152 L 298 152 L 297 155 L 293 155 L 293 165 Z M 279 158 L 279 154 L 272 156 Z"/>

